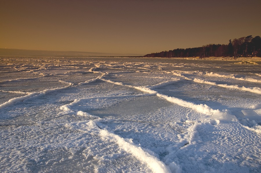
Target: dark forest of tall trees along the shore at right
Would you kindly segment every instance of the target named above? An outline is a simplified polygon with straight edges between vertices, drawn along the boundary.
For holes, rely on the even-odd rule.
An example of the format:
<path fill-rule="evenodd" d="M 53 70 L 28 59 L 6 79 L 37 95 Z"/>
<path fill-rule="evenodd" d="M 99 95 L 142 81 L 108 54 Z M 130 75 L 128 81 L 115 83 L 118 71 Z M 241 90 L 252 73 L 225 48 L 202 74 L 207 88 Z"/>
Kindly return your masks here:
<path fill-rule="evenodd" d="M 242 56 L 258 56 L 261 57 L 261 38 L 250 35 L 247 37 L 235 38 L 229 40 L 227 45 L 209 44 L 202 47 L 174 49 L 162 51 L 159 53 L 151 53 L 144 57 L 242 57 Z"/>

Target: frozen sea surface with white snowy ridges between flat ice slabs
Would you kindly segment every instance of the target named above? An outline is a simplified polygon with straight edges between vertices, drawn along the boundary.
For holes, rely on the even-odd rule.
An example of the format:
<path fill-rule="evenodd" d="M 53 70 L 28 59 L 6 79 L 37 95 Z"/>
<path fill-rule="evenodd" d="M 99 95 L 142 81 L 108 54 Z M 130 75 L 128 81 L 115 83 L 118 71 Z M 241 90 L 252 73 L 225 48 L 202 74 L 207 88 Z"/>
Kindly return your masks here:
<path fill-rule="evenodd" d="M 261 172 L 260 87 L 236 60 L 0 57 L 0 172 Z"/>

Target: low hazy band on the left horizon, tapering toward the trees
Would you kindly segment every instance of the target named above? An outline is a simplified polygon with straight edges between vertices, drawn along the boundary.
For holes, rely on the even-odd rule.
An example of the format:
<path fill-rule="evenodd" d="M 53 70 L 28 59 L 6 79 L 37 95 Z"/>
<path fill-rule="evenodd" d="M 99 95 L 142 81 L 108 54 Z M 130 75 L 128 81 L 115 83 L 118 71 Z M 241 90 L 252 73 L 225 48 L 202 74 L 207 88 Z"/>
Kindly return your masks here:
<path fill-rule="evenodd" d="M 111 54 L 84 51 L 48 51 L 0 48 L 0 56 L 143 56 L 141 54 Z"/>

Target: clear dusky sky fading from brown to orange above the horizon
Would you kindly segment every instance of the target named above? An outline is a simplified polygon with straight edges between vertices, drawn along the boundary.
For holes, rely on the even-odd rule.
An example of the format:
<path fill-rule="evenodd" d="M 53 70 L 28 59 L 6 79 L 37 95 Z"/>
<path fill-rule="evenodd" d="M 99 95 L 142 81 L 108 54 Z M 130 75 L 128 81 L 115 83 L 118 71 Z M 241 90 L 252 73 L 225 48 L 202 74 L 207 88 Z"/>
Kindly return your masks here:
<path fill-rule="evenodd" d="M 145 55 L 261 36 L 260 0 L 0 0 L 0 48 Z"/>

